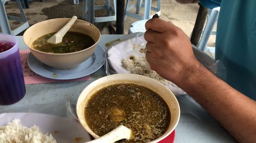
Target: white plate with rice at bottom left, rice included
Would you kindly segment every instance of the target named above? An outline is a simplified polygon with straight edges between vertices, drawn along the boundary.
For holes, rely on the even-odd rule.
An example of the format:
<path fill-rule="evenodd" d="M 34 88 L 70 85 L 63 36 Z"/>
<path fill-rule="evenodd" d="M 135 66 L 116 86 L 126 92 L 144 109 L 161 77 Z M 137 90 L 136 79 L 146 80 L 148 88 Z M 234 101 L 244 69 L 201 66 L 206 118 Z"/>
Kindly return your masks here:
<path fill-rule="evenodd" d="M 0 114 L 0 142 L 79 143 L 91 140 L 75 120 L 42 113 Z"/>

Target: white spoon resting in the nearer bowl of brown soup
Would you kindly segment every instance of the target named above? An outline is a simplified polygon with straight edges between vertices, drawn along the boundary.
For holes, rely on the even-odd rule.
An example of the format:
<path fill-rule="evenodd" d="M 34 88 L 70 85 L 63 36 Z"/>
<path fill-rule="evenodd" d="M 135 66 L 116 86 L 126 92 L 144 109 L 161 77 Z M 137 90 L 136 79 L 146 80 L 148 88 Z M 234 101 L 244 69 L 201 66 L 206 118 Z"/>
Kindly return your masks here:
<path fill-rule="evenodd" d="M 130 139 L 132 136 L 132 131 L 128 128 L 126 128 L 123 125 L 118 126 L 117 128 L 115 128 L 114 130 L 112 130 L 111 132 L 96 138 L 94 140 L 88 141 L 88 142 L 84 142 L 84 143 L 113 143 L 117 140 L 120 139 Z"/>

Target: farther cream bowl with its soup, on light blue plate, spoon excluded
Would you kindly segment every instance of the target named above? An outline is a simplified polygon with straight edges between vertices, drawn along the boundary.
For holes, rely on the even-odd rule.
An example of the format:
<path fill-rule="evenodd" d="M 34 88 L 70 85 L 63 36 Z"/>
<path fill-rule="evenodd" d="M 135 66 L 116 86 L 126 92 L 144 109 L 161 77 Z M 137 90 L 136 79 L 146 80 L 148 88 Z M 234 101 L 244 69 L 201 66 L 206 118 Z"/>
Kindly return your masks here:
<path fill-rule="evenodd" d="M 77 19 L 61 43 L 47 42 L 69 20 L 49 19 L 26 30 L 23 40 L 40 62 L 56 69 L 68 70 L 79 66 L 93 54 L 100 39 L 100 31 L 87 21 Z"/>

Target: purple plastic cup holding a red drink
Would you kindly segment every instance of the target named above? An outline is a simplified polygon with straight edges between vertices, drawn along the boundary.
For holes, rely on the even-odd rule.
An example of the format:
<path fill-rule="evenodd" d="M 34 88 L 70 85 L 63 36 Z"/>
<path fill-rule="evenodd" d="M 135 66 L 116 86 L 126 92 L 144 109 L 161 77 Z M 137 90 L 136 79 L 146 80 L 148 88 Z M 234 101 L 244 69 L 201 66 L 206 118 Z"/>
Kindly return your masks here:
<path fill-rule="evenodd" d="M 3 50 L 3 43 L 13 45 Z M 14 36 L 0 34 L 0 105 L 10 105 L 21 100 L 26 94 L 18 42 Z M 1 50 L 0 49 L 0 50 Z"/>

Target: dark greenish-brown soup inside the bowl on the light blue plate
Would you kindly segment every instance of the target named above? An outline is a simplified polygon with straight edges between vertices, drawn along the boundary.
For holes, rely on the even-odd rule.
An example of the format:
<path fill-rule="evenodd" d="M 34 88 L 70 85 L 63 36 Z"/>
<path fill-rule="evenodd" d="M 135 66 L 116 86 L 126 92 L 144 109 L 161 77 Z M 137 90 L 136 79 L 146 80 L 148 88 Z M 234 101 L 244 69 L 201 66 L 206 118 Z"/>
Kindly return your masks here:
<path fill-rule="evenodd" d="M 70 53 L 80 51 L 92 46 L 95 41 L 88 35 L 78 32 L 68 32 L 59 44 L 48 43 L 47 40 L 55 33 L 39 37 L 32 43 L 32 48 L 48 53 Z"/>

